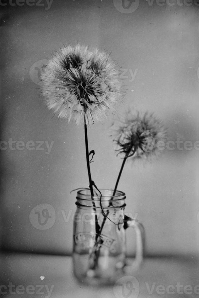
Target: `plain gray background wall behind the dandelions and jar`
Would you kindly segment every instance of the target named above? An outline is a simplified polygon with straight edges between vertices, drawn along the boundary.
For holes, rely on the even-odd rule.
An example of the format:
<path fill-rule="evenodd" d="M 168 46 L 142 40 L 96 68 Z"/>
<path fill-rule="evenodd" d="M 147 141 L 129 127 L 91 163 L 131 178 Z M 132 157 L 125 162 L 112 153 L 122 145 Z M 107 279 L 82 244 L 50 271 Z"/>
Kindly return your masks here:
<path fill-rule="evenodd" d="M 84 131 L 46 109 L 39 96 L 37 67 L 63 44 L 78 41 L 112 52 L 123 69 L 127 95 L 121 112 L 126 107 L 155 112 L 168 127 L 169 140 L 183 141 L 183 150 L 175 144 L 155 162 L 129 161 L 119 184 L 127 195 L 127 213 L 145 226 L 147 254 L 197 254 L 198 150 L 183 147 L 187 140 L 199 140 L 197 2 L 180 6 L 183 1 L 136 1 L 129 9 L 122 8 L 120 0 L 54 0 L 50 7 L 37 2 L 4 2 L 1 10 L 2 249 L 72 251 L 75 192 L 70 191 L 88 185 Z M 96 152 L 93 180 L 101 188 L 114 187 L 121 164 L 108 134 L 111 119 L 88 129 L 89 148 Z M 15 141 L 12 147 L 9 139 Z M 34 150 L 28 150 L 18 141 L 53 146 L 47 154 L 45 143 L 43 150 L 36 150 L 29 142 Z M 51 219 L 41 230 L 31 214 L 44 207 Z M 129 254 L 134 251 L 131 234 L 127 232 Z"/>

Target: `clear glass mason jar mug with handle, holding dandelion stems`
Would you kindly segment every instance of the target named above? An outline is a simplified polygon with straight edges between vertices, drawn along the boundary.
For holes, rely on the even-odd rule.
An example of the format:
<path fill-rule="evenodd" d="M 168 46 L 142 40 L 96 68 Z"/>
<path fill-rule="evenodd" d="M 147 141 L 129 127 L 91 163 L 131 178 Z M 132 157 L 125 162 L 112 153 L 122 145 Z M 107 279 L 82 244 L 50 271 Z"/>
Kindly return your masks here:
<path fill-rule="evenodd" d="M 100 195 L 101 193 L 101 195 Z M 143 259 L 144 229 L 138 221 L 124 215 L 125 193 L 101 189 L 77 192 L 74 216 L 73 267 L 77 279 L 88 285 L 113 284 L 125 273 L 138 269 Z M 126 264 L 127 227 L 136 232 L 136 256 Z"/>

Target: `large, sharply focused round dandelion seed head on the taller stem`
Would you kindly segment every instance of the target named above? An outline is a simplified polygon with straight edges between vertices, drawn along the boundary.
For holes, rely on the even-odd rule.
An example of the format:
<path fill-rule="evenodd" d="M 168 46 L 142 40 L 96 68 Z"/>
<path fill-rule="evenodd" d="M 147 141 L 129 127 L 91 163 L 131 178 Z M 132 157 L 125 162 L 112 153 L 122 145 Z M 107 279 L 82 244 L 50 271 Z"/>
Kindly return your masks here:
<path fill-rule="evenodd" d="M 102 121 L 122 100 L 116 64 L 97 48 L 61 47 L 44 66 L 40 80 L 47 107 L 68 122 Z"/>

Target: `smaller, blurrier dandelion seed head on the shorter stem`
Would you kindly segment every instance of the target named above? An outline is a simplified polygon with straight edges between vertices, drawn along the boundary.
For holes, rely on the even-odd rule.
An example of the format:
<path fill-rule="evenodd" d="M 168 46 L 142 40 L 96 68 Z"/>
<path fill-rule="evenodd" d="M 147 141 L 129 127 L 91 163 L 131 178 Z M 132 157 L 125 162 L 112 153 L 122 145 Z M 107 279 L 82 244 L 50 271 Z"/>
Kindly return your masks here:
<path fill-rule="evenodd" d="M 113 126 L 114 149 L 122 158 L 153 158 L 160 153 L 159 146 L 166 141 L 166 129 L 153 113 L 146 112 L 141 116 L 128 112 L 124 120 L 117 121 Z"/>

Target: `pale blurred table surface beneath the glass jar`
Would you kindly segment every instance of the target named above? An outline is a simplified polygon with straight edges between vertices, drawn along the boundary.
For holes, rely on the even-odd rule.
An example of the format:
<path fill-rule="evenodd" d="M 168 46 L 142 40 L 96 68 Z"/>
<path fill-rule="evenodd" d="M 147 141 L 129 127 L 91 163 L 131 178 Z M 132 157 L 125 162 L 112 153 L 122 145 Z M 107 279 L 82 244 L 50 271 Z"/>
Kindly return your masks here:
<path fill-rule="evenodd" d="M 133 276 L 98 288 L 76 281 L 70 256 L 2 253 L 0 265 L 0 297 L 199 297 L 196 257 L 145 258 Z"/>

